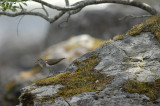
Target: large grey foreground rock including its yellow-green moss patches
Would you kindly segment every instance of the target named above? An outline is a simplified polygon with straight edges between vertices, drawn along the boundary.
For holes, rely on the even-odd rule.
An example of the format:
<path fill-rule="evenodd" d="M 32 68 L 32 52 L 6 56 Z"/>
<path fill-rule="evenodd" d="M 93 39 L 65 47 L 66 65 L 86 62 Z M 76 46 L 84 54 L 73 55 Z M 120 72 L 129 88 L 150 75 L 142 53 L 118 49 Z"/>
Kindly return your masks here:
<path fill-rule="evenodd" d="M 159 106 L 159 17 L 127 33 L 137 36 L 119 35 L 74 60 L 66 73 L 23 88 L 20 105 Z"/>

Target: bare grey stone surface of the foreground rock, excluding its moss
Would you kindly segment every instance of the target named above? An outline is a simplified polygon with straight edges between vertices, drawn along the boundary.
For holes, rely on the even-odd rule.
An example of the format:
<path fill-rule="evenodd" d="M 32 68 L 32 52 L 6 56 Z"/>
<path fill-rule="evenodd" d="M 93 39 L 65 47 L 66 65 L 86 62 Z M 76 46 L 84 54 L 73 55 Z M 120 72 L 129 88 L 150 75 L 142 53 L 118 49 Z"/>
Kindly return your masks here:
<path fill-rule="evenodd" d="M 47 101 L 37 104 L 46 106 L 159 106 L 160 98 L 157 104 L 146 102 L 150 98 L 143 94 L 125 92 L 122 84 L 128 79 L 137 78 L 138 81 L 150 82 L 160 78 L 160 43 L 153 34 L 146 32 L 137 36 L 125 36 L 123 40 L 113 41 L 102 47 L 89 52 L 76 59 L 82 61 L 91 54 L 97 53 L 100 62 L 95 67 L 106 75 L 114 75 L 112 83 L 99 87 L 101 91 L 86 92 L 70 98 L 57 98 L 54 102 Z M 72 62 L 66 71 L 74 72 L 77 67 Z M 33 86 L 33 85 L 32 85 Z M 37 87 L 33 91 L 36 97 L 42 95 L 54 95 L 61 85 L 51 85 Z M 30 89 L 25 88 L 25 89 Z M 54 89 L 54 90 L 53 90 Z M 102 90 L 103 89 L 103 90 Z M 23 94 L 22 94 L 23 95 Z"/>

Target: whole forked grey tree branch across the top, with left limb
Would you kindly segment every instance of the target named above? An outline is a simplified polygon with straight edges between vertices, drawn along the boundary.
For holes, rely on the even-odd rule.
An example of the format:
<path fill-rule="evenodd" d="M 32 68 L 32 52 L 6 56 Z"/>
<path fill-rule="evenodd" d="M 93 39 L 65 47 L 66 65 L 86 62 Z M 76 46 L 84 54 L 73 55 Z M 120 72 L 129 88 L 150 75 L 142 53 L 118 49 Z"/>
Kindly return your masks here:
<path fill-rule="evenodd" d="M 10 17 L 16 17 L 19 15 L 33 15 L 33 16 L 39 16 L 39 17 L 47 20 L 48 22 L 53 23 L 57 19 L 62 17 L 65 13 L 68 13 L 69 17 L 70 17 L 70 15 L 78 13 L 85 6 L 93 5 L 93 4 L 102 4 L 102 3 L 117 3 L 117 4 L 130 5 L 130 6 L 135 6 L 135 7 L 141 8 L 141 9 L 149 12 L 151 15 L 157 14 L 157 11 L 154 8 L 152 8 L 151 6 L 149 6 L 148 4 L 138 2 L 138 1 L 133 1 L 133 0 L 85 0 L 85 1 L 76 2 L 73 5 L 69 5 L 69 0 L 65 0 L 66 6 L 64 6 L 64 7 L 52 5 L 52 4 L 49 4 L 49 3 L 42 1 L 42 0 L 32 0 L 32 1 L 40 3 L 42 5 L 42 9 L 45 11 L 46 15 L 39 13 L 39 12 L 31 12 L 31 11 L 30 12 L 21 11 L 21 12 L 17 12 L 17 13 L 7 13 L 7 12 L 0 11 L 0 15 L 6 15 L 6 16 L 10 16 Z M 44 6 L 47 6 L 51 9 L 56 9 L 56 10 L 60 11 L 60 13 L 57 14 L 55 17 L 50 18 L 48 11 L 45 9 Z"/>

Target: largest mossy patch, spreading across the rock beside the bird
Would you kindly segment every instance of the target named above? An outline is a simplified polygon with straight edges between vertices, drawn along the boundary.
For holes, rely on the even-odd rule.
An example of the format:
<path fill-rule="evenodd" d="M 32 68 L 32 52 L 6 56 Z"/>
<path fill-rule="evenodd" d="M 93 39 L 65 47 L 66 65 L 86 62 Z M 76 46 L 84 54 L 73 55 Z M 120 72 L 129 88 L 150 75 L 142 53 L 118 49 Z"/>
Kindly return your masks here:
<path fill-rule="evenodd" d="M 113 76 L 106 76 L 100 71 L 94 70 L 94 67 L 99 63 L 97 54 L 92 54 L 88 59 L 82 61 L 74 61 L 74 65 L 78 68 L 75 72 L 61 73 L 54 77 L 36 81 L 37 86 L 62 84 L 56 97 L 63 98 L 81 94 L 83 92 L 97 91 L 98 87 L 103 87 L 111 83 Z"/>

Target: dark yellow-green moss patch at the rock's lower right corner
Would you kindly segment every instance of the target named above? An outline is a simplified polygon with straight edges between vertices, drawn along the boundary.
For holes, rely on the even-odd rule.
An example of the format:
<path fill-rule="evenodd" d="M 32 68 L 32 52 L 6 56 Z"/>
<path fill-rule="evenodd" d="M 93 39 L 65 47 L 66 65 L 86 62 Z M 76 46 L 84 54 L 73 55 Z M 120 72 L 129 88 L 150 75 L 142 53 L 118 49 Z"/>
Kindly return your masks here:
<path fill-rule="evenodd" d="M 160 79 L 152 82 L 140 82 L 138 80 L 127 80 L 123 85 L 124 90 L 130 93 L 145 94 L 150 98 L 149 101 L 156 103 L 160 94 Z"/>

